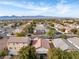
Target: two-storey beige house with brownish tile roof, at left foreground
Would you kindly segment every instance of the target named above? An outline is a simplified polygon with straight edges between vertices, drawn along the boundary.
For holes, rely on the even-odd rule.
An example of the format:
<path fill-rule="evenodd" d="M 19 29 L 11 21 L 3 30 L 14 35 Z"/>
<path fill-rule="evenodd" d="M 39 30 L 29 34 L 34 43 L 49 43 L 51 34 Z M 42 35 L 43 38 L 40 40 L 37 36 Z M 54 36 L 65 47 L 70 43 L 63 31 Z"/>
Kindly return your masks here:
<path fill-rule="evenodd" d="M 30 44 L 30 38 L 28 37 L 10 37 L 7 42 L 7 47 L 10 55 L 18 55 L 18 51 L 23 46 Z"/>

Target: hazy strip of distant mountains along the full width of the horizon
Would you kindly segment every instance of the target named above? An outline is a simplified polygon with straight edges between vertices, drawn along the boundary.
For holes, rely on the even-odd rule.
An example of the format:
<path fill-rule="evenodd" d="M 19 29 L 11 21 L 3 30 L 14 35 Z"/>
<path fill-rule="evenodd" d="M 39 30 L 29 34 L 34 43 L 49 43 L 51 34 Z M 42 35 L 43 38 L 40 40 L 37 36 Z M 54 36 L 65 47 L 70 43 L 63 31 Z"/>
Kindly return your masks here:
<path fill-rule="evenodd" d="M 73 19 L 73 20 L 79 20 L 79 18 L 71 18 L 71 17 L 53 17 L 53 16 L 0 16 L 0 20 L 28 20 L 28 19 L 58 19 L 58 20 L 69 20 L 69 19 Z"/>

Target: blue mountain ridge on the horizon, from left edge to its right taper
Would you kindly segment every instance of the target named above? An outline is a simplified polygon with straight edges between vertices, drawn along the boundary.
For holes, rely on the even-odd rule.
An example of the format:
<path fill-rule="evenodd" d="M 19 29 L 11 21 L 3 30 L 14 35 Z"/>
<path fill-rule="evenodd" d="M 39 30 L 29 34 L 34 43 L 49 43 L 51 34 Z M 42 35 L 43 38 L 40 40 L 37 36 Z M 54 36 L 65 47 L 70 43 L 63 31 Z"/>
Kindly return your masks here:
<path fill-rule="evenodd" d="M 51 16 L 0 16 L 0 20 L 10 19 L 49 19 Z"/>

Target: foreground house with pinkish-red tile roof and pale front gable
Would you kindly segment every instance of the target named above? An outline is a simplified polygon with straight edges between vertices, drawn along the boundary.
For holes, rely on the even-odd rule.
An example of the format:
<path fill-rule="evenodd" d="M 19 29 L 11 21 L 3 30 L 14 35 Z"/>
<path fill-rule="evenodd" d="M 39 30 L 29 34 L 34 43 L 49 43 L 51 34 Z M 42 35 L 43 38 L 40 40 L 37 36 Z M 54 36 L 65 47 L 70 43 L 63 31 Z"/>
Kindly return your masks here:
<path fill-rule="evenodd" d="M 36 48 L 38 59 L 47 59 L 48 49 L 51 48 L 49 40 L 42 38 L 35 38 L 35 40 L 33 40 L 33 46 Z"/>

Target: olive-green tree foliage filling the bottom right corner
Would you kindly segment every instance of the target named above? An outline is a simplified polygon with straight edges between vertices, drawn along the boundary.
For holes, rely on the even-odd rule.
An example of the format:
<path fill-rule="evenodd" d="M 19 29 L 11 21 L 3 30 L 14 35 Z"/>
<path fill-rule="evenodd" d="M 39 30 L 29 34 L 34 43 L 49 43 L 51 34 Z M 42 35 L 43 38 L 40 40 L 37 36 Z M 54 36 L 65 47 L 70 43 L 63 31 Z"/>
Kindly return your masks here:
<path fill-rule="evenodd" d="M 59 48 L 51 48 L 48 51 L 48 59 L 79 59 L 79 51 L 62 51 Z"/>

